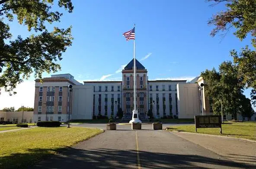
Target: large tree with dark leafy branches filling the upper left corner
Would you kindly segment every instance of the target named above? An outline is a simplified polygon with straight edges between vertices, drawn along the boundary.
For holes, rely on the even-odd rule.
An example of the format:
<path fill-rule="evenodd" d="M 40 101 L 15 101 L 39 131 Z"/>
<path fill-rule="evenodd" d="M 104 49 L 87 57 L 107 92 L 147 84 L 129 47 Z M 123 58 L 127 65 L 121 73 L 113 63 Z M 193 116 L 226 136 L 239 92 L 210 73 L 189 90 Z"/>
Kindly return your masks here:
<path fill-rule="evenodd" d="M 57 1 L 57 0 L 55 0 Z M 49 32 L 47 22 L 60 22 L 63 13 L 52 11 L 54 0 L 0 0 L 0 88 L 9 92 L 17 83 L 29 78 L 34 72 L 35 78 L 42 78 L 43 72 L 56 72 L 61 69 L 57 63 L 62 53 L 71 46 L 73 39 L 71 27 L 54 27 Z M 71 0 L 58 0 L 58 6 L 69 13 L 73 11 Z M 15 17 L 16 16 L 16 17 Z M 36 34 L 27 38 L 18 36 L 15 40 L 10 33 L 10 25 L 17 18 L 19 24 L 26 25 Z M 15 92 L 13 92 L 15 94 Z"/>

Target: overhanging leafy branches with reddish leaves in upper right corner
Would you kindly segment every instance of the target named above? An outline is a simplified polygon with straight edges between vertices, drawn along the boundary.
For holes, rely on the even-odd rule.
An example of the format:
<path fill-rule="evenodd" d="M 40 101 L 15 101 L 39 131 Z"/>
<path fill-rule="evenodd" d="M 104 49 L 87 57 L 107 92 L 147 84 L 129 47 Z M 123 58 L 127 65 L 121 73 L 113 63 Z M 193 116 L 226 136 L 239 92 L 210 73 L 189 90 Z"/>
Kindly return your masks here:
<path fill-rule="evenodd" d="M 224 2 L 226 11 L 221 11 L 213 15 L 208 21 L 209 25 L 215 28 L 211 31 L 211 36 L 215 36 L 219 31 L 229 31 L 236 28 L 234 35 L 241 41 L 247 34 L 252 36 L 252 44 L 256 47 L 256 0 L 208 0 L 216 3 Z"/>

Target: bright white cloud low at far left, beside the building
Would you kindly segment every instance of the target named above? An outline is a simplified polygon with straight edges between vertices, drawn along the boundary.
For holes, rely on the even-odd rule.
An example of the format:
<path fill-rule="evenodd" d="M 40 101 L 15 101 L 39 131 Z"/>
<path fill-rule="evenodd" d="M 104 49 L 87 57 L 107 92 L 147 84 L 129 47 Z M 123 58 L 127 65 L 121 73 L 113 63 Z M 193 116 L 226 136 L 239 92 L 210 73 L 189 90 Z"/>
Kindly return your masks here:
<path fill-rule="evenodd" d="M 12 107 L 18 109 L 20 106 L 34 107 L 35 99 L 35 81 L 24 81 L 17 85 L 14 90 L 17 94 L 9 95 L 8 92 L 1 88 L 0 94 L 0 110 L 4 107 Z"/>

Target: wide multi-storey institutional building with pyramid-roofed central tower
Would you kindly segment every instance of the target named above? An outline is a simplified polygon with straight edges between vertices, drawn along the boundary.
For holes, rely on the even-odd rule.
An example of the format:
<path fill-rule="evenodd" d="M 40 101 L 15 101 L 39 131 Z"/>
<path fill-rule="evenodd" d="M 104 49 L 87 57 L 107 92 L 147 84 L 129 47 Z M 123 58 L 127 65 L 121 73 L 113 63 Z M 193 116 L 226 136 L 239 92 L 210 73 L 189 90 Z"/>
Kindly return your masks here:
<path fill-rule="evenodd" d="M 202 78 L 186 80 L 148 80 L 147 69 L 136 60 L 137 107 L 140 118 L 151 109 L 155 118 L 194 118 L 212 114 L 211 99 L 204 96 Z M 70 74 L 51 75 L 35 80 L 34 121 L 93 119 L 116 116 L 122 108 L 125 117 L 133 110 L 133 60 L 122 70 L 122 81 L 76 81 Z M 73 85 L 72 92 L 69 84 Z M 204 89 L 204 87 L 202 88 Z M 71 104 L 70 104 L 71 102 Z M 203 106 L 202 106 L 203 104 Z M 203 111 L 202 111 L 203 107 Z"/>

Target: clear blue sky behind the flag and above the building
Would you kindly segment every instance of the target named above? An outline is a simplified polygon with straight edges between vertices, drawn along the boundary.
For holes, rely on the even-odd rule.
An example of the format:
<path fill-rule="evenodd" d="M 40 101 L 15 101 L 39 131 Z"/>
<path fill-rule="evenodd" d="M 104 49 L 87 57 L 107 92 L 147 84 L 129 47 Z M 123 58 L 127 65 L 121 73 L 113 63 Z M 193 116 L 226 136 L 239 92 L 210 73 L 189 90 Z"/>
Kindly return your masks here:
<path fill-rule="evenodd" d="M 148 70 L 150 80 L 191 79 L 205 69 L 218 68 L 223 61 L 231 60 L 230 50 L 250 45 L 249 38 L 244 41 L 236 38 L 234 30 L 223 39 L 210 36 L 213 26 L 207 24 L 208 19 L 225 9 L 224 4 L 212 7 L 205 0 L 73 0 L 73 3 L 74 12 L 64 12 L 61 23 L 48 28 L 51 31 L 53 26 L 72 25 L 74 41 L 63 54 L 58 73 L 70 73 L 79 81 L 122 79 L 118 69 L 133 57 L 133 42 L 127 42 L 122 33 L 133 28 L 134 23 L 136 58 L 148 56 L 140 62 Z M 10 26 L 13 38 L 33 33 L 16 21 Z M 44 77 L 47 76 L 45 73 Z M 33 76 L 29 78 L 30 85 L 33 80 Z M 31 94 L 34 92 L 33 88 L 29 90 Z M 249 93 L 246 91 L 247 97 Z M 33 99 L 28 104 L 33 106 Z"/>

